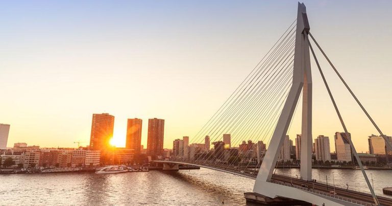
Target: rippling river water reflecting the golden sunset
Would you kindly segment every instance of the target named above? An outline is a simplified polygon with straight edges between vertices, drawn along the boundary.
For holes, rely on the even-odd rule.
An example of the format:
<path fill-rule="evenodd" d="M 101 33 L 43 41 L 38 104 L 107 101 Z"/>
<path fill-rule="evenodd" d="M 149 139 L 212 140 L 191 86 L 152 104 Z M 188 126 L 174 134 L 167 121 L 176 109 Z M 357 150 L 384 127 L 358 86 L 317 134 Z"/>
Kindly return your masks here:
<path fill-rule="evenodd" d="M 298 169 L 278 169 L 296 178 Z M 391 170 L 366 170 L 374 188 L 392 187 Z M 332 179 L 333 174 L 333 179 Z M 366 192 L 360 170 L 313 169 L 313 178 Z M 246 205 L 254 180 L 219 171 L 180 170 L 119 174 L 49 173 L 0 175 L 0 205 Z M 368 192 L 369 193 L 369 192 Z M 382 195 L 383 196 L 383 195 Z M 247 204 L 252 205 L 252 204 Z"/>

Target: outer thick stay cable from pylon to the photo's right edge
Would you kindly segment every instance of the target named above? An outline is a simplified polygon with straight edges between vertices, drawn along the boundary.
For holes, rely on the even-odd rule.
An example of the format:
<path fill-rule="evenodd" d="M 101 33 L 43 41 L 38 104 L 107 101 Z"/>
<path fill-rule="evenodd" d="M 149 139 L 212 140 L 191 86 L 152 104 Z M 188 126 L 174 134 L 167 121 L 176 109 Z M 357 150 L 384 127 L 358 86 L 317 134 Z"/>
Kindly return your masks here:
<path fill-rule="evenodd" d="M 373 118 L 369 115 L 369 112 L 366 111 L 366 109 L 363 107 L 361 102 L 358 100 L 358 98 L 355 96 L 354 92 L 351 90 L 349 85 L 346 83 L 346 81 L 341 77 L 340 73 L 336 70 L 336 67 L 332 64 L 331 60 L 329 60 L 328 56 L 325 54 L 324 50 L 320 47 L 320 45 L 317 43 L 317 41 L 314 39 L 313 35 L 308 32 L 314 43 L 317 45 L 317 48 L 321 51 L 321 53 L 324 55 L 324 57 L 327 59 L 328 63 L 331 65 L 341 82 L 346 86 L 346 88 L 349 90 L 351 96 L 355 99 L 355 101 L 358 103 L 358 105 L 361 107 L 363 112 L 365 113 L 366 117 L 372 122 L 373 126 L 377 129 L 377 131 L 380 133 L 382 138 L 385 140 L 385 145 L 389 147 L 389 150 L 392 151 L 392 145 L 391 143 L 386 139 L 384 133 L 381 131 L 381 129 L 377 126 L 376 122 L 373 120 Z"/>

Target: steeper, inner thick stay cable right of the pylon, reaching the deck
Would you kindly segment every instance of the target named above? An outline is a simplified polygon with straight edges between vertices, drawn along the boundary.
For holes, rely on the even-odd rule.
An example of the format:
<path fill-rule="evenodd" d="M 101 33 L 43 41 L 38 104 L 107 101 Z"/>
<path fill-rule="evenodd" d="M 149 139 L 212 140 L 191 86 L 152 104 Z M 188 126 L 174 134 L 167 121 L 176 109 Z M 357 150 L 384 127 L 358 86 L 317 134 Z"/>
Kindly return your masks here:
<path fill-rule="evenodd" d="M 351 149 L 352 149 L 352 153 L 354 154 L 355 158 L 357 159 L 358 165 L 359 165 L 359 167 L 361 168 L 363 177 L 365 178 L 366 184 L 367 184 L 367 186 L 369 187 L 369 190 L 370 190 L 370 192 L 371 192 L 371 194 L 372 194 L 372 196 L 373 196 L 374 202 L 376 203 L 376 205 L 379 205 L 380 203 L 379 203 L 379 201 L 378 201 L 378 199 L 377 199 L 377 196 L 376 196 L 376 194 L 375 194 L 375 192 L 374 192 L 374 190 L 373 190 L 373 187 L 372 187 L 372 185 L 371 185 L 371 183 L 370 183 L 370 181 L 369 181 L 369 178 L 367 178 L 366 172 L 365 172 L 365 170 L 363 169 L 361 160 L 360 160 L 360 158 L 359 158 L 359 156 L 358 156 L 358 153 L 357 153 L 357 151 L 356 151 L 356 149 L 355 149 L 355 147 L 354 147 L 354 144 L 353 144 L 353 142 L 352 142 L 352 140 L 351 140 L 351 136 L 349 135 L 349 132 L 348 132 L 347 127 L 346 127 L 346 124 L 345 124 L 345 122 L 343 121 L 343 118 L 341 117 L 341 114 L 340 114 L 339 109 L 337 108 L 335 99 L 333 98 L 333 95 L 332 95 L 332 93 L 331 93 L 331 89 L 330 89 L 329 86 L 328 86 L 327 80 L 325 79 L 325 76 L 324 76 L 324 73 L 323 73 L 323 71 L 322 71 L 322 69 L 321 69 L 321 66 L 320 66 L 320 64 L 318 63 L 318 60 L 317 60 L 316 55 L 314 54 L 313 48 L 312 48 L 312 46 L 311 46 L 311 44 L 310 44 L 310 42 L 309 42 L 308 35 L 306 35 L 306 39 L 308 40 L 310 51 L 312 52 L 313 58 L 314 58 L 314 60 L 315 60 L 315 62 L 316 62 L 316 64 L 317 64 L 318 71 L 320 72 L 321 77 L 323 78 L 323 82 L 324 82 L 324 84 L 325 84 L 325 87 L 327 88 L 328 95 L 329 95 L 329 97 L 331 98 L 332 104 L 333 104 L 333 106 L 334 106 L 334 108 L 335 108 L 335 110 L 336 110 L 336 113 L 337 113 L 337 116 L 338 116 L 338 118 L 339 118 L 339 120 L 340 120 L 341 126 L 342 126 L 343 129 L 345 130 L 347 139 L 348 139 L 348 141 L 349 141 L 349 143 L 350 143 L 350 147 L 351 147 Z"/>

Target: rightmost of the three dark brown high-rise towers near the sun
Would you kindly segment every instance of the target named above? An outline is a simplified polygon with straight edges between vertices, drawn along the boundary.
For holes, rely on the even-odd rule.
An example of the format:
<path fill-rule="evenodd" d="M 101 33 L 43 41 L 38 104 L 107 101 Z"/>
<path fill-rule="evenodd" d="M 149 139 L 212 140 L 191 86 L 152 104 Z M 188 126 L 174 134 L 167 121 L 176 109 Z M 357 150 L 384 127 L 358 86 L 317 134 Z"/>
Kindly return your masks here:
<path fill-rule="evenodd" d="M 162 155 L 165 120 L 149 119 L 147 153 L 154 158 Z"/>

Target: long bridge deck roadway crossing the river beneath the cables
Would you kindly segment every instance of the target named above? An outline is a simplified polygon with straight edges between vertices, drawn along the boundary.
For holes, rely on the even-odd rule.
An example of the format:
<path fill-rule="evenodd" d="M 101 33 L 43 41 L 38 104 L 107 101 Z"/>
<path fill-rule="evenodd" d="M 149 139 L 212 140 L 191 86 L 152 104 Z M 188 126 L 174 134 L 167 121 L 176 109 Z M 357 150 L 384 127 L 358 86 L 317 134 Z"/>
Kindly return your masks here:
<path fill-rule="evenodd" d="M 228 165 L 219 165 L 216 164 L 208 164 L 205 162 L 193 162 L 193 161 L 155 161 L 156 163 L 174 163 L 181 165 L 194 165 L 203 168 L 208 168 L 212 170 L 218 170 L 221 172 L 226 172 L 230 174 L 235 174 L 242 177 L 247 177 L 251 179 L 256 179 L 257 171 L 244 169 L 240 167 L 228 167 Z M 316 193 L 318 195 L 328 196 L 344 201 L 348 201 L 351 203 L 356 203 L 358 205 L 375 205 L 373 201 L 373 197 L 370 194 L 346 190 L 342 188 L 335 187 L 335 192 L 337 195 L 330 194 L 330 191 L 333 191 L 333 187 L 327 186 L 321 182 L 313 182 L 306 181 L 302 179 L 292 178 L 283 175 L 274 174 L 272 176 L 271 182 L 287 187 L 294 187 L 301 190 L 306 190 L 308 192 Z M 392 205 L 392 199 L 386 197 L 377 196 L 378 200 L 382 205 Z"/>

